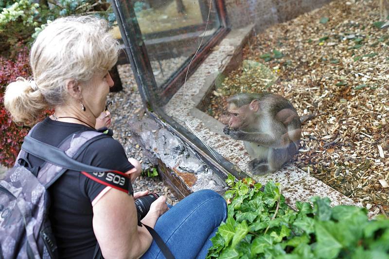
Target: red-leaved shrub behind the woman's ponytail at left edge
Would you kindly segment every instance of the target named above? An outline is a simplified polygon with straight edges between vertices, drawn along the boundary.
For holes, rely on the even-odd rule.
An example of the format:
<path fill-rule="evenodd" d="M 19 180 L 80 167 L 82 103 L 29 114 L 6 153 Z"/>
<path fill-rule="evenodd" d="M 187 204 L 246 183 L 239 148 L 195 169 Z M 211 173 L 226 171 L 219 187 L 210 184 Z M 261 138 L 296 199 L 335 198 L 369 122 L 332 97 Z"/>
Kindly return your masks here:
<path fill-rule="evenodd" d="M 3 96 L 7 85 L 18 77 L 31 77 L 28 49 L 22 49 L 15 60 L 0 57 L 0 164 L 11 167 L 18 156 L 23 138 L 30 127 L 17 126 L 5 110 Z M 50 113 L 50 111 L 45 111 Z M 42 114 L 43 115 L 43 114 Z"/>

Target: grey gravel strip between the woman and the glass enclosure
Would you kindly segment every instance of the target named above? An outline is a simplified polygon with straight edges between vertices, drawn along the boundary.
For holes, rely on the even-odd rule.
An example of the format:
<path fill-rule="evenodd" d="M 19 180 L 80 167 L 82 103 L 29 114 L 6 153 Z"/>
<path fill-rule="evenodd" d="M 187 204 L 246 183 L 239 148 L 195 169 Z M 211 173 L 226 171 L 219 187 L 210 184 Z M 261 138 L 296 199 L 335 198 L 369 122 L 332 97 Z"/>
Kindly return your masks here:
<path fill-rule="evenodd" d="M 109 93 L 108 99 L 112 100 L 113 137 L 123 146 L 127 157 L 133 157 L 142 164 L 143 172 L 149 170 L 147 159 L 143 160 L 141 147 L 135 142 L 129 131 L 129 120 L 134 114 L 140 113 L 143 107 L 141 95 L 129 64 L 119 65 L 118 71 L 123 84 L 123 90 L 117 93 Z M 165 195 L 169 204 L 175 205 L 178 200 L 170 192 L 168 187 L 159 177 L 149 178 L 141 176 L 133 184 L 134 191 L 149 190 L 159 195 Z"/>

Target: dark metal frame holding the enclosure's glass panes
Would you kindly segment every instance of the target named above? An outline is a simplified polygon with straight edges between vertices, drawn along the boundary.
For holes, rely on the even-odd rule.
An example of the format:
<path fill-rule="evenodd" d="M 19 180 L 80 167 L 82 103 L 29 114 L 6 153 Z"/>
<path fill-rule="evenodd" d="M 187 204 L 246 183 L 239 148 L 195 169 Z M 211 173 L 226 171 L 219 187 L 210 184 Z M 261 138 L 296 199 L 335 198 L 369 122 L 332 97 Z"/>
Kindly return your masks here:
<path fill-rule="evenodd" d="M 216 2 L 216 10 L 220 20 L 220 27 L 214 32 L 211 39 L 208 40 L 197 52 L 195 58 L 190 65 L 188 78 L 195 72 L 202 61 L 210 54 L 212 47 L 217 45 L 224 36 L 230 31 L 229 21 L 226 13 L 224 0 L 214 0 Z M 207 163 L 211 169 L 220 177 L 227 178 L 230 173 L 236 178 L 248 177 L 244 172 L 239 170 L 236 165 L 226 160 L 223 156 L 217 153 L 214 149 L 212 152 L 216 154 L 217 161 L 214 160 L 212 152 L 189 130 L 174 121 L 160 107 L 168 102 L 179 87 L 183 85 L 186 73 L 188 71 L 189 61 L 180 70 L 167 81 L 162 92 L 162 96 L 155 96 L 155 93 L 150 93 L 147 86 L 157 86 L 153 70 L 150 64 L 150 59 L 147 54 L 146 46 L 141 37 L 141 30 L 137 19 L 131 19 L 131 26 L 124 22 L 124 17 L 136 17 L 135 11 L 128 0 L 111 0 L 116 20 L 118 21 L 119 29 L 122 33 L 124 42 L 124 52 L 134 71 L 134 77 L 138 84 L 138 89 L 141 94 L 143 104 L 146 108 L 146 113 L 155 119 L 164 128 L 168 129 L 174 135 L 179 137 L 184 143 L 190 143 L 191 148 L 195 149 L 200 158 Z M 137 43 L 137 44 L 134 44 Z M 238 169 L 238 170 L 237 170 Z"/>

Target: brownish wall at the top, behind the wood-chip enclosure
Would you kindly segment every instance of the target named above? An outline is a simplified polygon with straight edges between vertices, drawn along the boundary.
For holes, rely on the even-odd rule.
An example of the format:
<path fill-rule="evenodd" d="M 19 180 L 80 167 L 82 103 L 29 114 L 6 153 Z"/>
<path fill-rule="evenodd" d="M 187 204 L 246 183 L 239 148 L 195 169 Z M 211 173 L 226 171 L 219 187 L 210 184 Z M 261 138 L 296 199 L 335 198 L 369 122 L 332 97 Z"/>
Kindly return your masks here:
<path fill-rule="evenodd" d="M 231 28 L 254 23 L 257 32 L 293 19 L 331 0 L 225 0 Z"/>

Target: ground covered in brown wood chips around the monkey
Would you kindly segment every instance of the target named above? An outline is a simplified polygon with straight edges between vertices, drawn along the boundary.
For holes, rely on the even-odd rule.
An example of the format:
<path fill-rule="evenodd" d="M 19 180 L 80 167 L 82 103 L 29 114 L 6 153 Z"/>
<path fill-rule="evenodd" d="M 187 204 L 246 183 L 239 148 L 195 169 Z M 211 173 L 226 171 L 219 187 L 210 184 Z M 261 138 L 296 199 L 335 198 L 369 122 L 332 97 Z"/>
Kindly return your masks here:
<path fill-rule="evenodd" d="M 302 128 L 295 164 L 366 208 L 389 213 L 389 29 L 378 0 L 335 0 L 252 38 L 242 66 L 216 86 L 207 112 L 226 122 L 226 97 L 286 97 Z"/>

